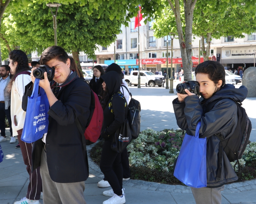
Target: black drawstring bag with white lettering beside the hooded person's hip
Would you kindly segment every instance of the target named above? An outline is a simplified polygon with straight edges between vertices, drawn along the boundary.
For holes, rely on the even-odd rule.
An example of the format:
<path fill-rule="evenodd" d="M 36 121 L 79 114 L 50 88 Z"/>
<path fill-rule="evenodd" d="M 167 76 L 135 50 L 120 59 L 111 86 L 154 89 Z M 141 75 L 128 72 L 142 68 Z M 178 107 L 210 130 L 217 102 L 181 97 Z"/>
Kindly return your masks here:
<path fill-rule="evenodd" d="M 131 130 L 127 119 L 124 120 L 123 125 L 118 128 L 113 136 L 111 149 L 118 153 L 123 152 L 132 140 Z"/>

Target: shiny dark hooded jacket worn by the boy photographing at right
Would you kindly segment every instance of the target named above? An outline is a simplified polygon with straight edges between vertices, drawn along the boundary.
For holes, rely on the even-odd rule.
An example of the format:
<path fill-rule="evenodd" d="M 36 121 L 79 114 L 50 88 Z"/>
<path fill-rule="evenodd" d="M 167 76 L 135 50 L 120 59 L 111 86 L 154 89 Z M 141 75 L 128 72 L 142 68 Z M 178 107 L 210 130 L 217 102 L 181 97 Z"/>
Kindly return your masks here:
<path fill-rule="evenodd" d="M 178 98 L 172 101 L 177 124 L 181 129 L 186 130 L 188 135 L 195 135 L 196 125 L 201 121 L 199 137 L 207 138 L 207 187 L 220 187 L 238 179 L 227 155 L 223 152 L 222 174 L 220 181 L 216 182 L 220 139 L 215 134 L 220 133 L 224 139 L 233 134 L 237 124 L 236 102 L 243 102 L 247 97 L 247 92 L 245 86 L 236 89 L 234 85 L 226 84 L 202 103 L 197 95 L 186 97 L 184 103 L 179 103 Z M 215 103 L 215 105 L 212 110 L 205 113 L 210 103 Z"/>

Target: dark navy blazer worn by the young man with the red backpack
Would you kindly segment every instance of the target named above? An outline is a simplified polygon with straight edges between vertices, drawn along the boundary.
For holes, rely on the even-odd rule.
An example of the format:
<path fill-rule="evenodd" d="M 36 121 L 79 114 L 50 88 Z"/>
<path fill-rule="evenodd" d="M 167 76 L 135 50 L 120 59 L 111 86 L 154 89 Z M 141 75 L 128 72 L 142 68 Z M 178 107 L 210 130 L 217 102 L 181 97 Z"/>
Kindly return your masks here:
<path fill-rule="evenodd" d="M 31 82 L 32 83 L 32 82 Z M 27 109 L 28 96 L 32 91 L 25 87 L 22 108 Z M 55 93 L 55 89 L 52 89 Z M 82 135 L 75 120 L 87 124 L 90 114 L 91 90 L 89 85 L 73 72 L 61 84 L 56 101 L 48 111 L 49 127 L 46 136 L 46 157 L 51 179 L 57 183 L 75 183 L 88 178 L 89 166 L 84 151 Z M 40 166 L 43 142 L 33 143 L 32 170 Z"/>

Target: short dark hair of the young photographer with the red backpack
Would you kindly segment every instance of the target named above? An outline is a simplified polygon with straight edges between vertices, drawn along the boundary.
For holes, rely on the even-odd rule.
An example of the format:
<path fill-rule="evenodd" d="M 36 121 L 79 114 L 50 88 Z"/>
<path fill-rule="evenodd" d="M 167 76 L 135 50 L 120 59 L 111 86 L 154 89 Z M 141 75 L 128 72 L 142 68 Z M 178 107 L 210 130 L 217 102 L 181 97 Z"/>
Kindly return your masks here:
<path fill-rule="evenodd" d="M 59 60 L 60 62 L 66 63 L 69 59 L 67 52 L 60 46 L 47 47 L 41 55 L 40 64 L 47 65 L 52 59 Z"/>

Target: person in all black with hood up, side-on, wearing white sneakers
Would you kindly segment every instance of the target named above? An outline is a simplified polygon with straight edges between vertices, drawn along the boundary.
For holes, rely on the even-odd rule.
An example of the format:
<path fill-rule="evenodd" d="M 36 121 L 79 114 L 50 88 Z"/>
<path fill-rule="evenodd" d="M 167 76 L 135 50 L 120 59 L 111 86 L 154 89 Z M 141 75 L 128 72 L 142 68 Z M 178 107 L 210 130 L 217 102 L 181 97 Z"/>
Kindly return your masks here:
<path fill-rule="evenodd" d="M 100 158 L 100 170 L 113 189 L 103 192 L 103 195 L 111 196 L 103 204 L 123 204 L 125 203 L 125 194 L 121 153 L 111 149 L 111 142 L 116 130 L 122 126 L 127 117 L 128 104 L 120 92 L 122 83 L 120 74 L 109 71 L 100 78 L 103 80 L 102 88 L 104 90 L 101 100 L 104 122 L 100 136 L 105 139 Z"/>

